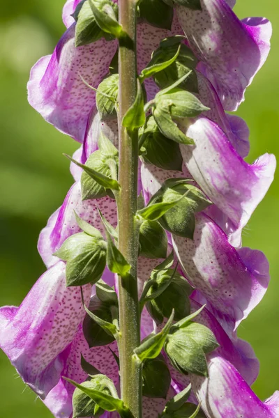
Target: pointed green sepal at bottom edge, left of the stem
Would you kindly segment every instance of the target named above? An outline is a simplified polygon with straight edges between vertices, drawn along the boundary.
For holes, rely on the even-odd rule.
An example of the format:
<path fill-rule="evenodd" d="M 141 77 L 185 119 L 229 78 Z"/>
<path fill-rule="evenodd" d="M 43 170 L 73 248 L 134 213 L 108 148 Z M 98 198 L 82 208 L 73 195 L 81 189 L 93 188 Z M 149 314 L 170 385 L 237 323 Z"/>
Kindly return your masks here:
<path fill-rule="evenodd" d="M 102 376 L 102 375 L 98 375 L 98 376 Z M 104 376 L 103 378 L 104 382 L 100 381 L 100 383 L 96 385 L 95 381 L 98 379 L 98 376 L 93 378 L 90 382 L 82 383 L 82 385 L 75 382 L 74 380 L 71 380 L 68 378 L 64 378 L 64 379 L 67 380 L 67 382 L 72 383 L 72 385 L 80 389 L 82 392 L 84 392 L 84 394 L 89 396 L 89 398 L 91 398 L 93 402 L 95 402 L 103 410 L 109 411 L 109 412 L 113 412 L 116 410 L 117 412 L 119 412 L 119 415 L 121 415 L 121 417 L 127 417 L 129 410 L 124 405 L 123 401 L 121 401 L 121 399 L 116 397 L 117 392 L 113 385 L 113 382 L 110 379 L 108 379 L 106 376 Z M 105 386 L 106 380 L 110 380 L 111 382 L 109 387 Z M 90 383 L 91 385 L 89 385 Z M 96 387 L 100 386 L 103 390 L 93 389 L 93 387 L 95 386 Z M 114 387 L 113 390 L 112 390 L 112 386 Z M 110 394 L 111 392 L 113 392 L 114 396 Z"/>

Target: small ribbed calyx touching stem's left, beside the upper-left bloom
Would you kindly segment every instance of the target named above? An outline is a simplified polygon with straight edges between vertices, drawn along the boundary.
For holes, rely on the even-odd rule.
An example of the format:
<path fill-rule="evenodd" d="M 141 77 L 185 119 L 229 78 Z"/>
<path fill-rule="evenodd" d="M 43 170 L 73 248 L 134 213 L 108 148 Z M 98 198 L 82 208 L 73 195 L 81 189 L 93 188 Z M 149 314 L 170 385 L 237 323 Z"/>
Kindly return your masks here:
<path fill-rule="evenodd" d="M 109 75 L 98 85 L 96 93 L 96 106 L 102 121 L 116 118 L 118 91 L 118 74 Z"/>

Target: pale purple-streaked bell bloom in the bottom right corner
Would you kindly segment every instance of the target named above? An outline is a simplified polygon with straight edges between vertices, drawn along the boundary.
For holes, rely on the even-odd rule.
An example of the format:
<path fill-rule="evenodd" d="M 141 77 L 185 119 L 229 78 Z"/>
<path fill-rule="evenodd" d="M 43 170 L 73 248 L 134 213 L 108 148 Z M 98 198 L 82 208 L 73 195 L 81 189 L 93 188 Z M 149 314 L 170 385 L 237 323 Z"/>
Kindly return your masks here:
<path fill-rule="evenodd" d="M 223 357 L 209 355 L 209 378 L 191 376 L 193 390 L 209 418 L 277 418 L 279 391 L 262 402 L 239 371 Z"/>

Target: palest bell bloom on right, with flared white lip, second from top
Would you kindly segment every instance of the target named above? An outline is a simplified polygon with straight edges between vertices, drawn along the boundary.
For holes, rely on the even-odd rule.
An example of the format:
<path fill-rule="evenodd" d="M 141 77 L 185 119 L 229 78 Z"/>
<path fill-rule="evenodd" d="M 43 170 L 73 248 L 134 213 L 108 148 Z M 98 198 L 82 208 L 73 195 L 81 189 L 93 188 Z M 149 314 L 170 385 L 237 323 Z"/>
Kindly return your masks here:
<path fill-rule="evenodd" d="M 223 130 L 204 116 L 190 122 L 186 134 L 195 146 L 181 146 L 183 161 L 206 196 L 223 212 L 218 224 L 231 235 L 232 244 L 240 245 L 241 230 L 273 181 L 276 158 L 264 154 L 248 164 Z"/>

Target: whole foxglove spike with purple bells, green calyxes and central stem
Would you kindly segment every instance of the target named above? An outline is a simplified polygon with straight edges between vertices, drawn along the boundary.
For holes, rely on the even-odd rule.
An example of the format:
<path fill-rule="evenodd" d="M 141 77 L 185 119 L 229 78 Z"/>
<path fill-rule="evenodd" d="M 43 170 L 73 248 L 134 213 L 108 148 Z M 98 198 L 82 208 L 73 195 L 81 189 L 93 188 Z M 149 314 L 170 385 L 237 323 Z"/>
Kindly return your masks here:
<path fill-rule="evenodd" d="M 47 271 L 0 309 L 0 343 L 56 418 L 276 418 L 238 339 L 269 263 L 241 247 L 273 155 L 234 111 L 271 25 L 234 0 L 68 0 L 29 102 L 82 146 L 40 233 Z"/>

